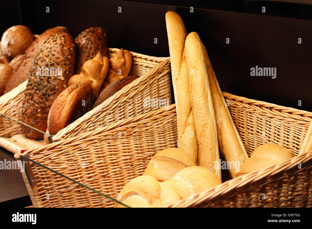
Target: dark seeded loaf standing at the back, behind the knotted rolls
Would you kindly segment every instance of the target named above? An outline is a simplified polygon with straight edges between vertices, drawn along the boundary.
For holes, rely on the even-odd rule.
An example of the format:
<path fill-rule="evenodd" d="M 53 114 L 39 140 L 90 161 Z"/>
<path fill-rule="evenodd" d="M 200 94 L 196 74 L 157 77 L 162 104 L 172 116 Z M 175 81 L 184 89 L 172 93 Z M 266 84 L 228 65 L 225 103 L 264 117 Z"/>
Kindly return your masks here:
<path fill-rule="evenodd" d="M 82 64 L 93 59 L 101 51 L 102 56 L 107 56 L 106 32 L 101 27 L 91 27 L 76 36 L 77 61 L 75 73 L 80 74 Z M 83 43 L 85 42 L 85 43 Z"/>

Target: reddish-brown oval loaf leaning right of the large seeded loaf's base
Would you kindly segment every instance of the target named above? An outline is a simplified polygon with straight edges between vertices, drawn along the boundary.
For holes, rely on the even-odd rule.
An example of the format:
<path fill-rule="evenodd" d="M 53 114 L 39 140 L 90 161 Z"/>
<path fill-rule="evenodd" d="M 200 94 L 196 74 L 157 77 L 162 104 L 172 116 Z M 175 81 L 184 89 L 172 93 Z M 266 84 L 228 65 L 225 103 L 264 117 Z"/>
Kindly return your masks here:
<path fill-rule="evenodd" d="M 90 111 L 97 96 L 95 88 L 89 83 L 75 83 L 62 91 L 55 99 L 49 112 L 49 134 L 55 135 Z"/>

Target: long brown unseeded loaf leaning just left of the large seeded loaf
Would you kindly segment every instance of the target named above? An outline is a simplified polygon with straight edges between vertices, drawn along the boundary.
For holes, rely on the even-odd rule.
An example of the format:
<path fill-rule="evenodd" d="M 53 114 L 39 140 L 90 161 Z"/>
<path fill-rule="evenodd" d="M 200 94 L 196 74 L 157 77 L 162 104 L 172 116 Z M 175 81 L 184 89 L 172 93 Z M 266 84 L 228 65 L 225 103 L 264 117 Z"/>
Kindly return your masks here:
<path fill-rule="evenodd" d="M 21 63 L 17 68 L 12 72 L 10 79 L 7 82 L 7 85 L 4 89 L 4 93 L 8 93 L 13 88 L 16 88 L 18 85 L 23 83 L 28 79 L 29 71 L 32 68 L 32 62 L 37 56 L 38 51 L 40 50 L 43 43 L 53 34 L 66 32 L 68 29 L 63 26 L 57 26 L 51 29 L 48 29 L 41 33 L 39 37 L 32 42 L 25 52 L 25 57 L 22 59 Z"/>

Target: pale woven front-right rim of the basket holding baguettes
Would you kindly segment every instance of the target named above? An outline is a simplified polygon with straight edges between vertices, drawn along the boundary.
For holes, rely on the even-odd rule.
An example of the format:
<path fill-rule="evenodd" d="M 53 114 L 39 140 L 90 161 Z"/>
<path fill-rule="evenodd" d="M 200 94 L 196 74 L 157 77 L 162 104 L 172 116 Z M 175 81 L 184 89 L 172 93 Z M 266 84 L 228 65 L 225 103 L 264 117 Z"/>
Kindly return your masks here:
<path fill-rule="evenodd" d="M 266 176 L 273 176 L 280 171 L 287 171 L 298 165 L 298 162 L 304 163 L 308 160 L 312 160 L 312 150 L 305 152 L 288 160 L 285 160 L 277 165 L 267 167 L 265 169 L 253 171 L 251 173 L 236 177 L 234 179 L 227 180 L 222 184 L 209 188 L 205 191 L 194 194 L 193 199 L 185 198 L 179 200 L 176 203 L 170 204 L 167 208 L 185 208 L 190 207 L 197 202 L 204 202 L 208 199 L 219 198 L 222 199 L 222 195 L 228 193 L 230 190 L 240 188 L 250 182 L 256 182 Z"/>

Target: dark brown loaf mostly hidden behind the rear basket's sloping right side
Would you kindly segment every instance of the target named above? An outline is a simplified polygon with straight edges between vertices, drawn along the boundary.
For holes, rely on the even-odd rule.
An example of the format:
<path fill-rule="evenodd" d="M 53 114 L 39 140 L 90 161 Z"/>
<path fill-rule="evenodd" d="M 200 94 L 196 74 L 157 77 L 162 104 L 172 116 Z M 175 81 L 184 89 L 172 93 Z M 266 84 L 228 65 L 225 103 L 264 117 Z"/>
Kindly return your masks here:
<path fill-rule="evenodd" d="M 128 76 L 122 79 L 119 79 L 113 83 L 111 83 L 110 85 L 108 85 L 100 94 L 99 98 L 96 100 L 96 102 L 93 105 L 94 107 L 99 106 L 101 103 L 103 103 L 106 99 L 110 98 L 111 96 L 113 96 L 116 92 L 118 92 L 119 90 L 121 90 L 121 88 L 123 88 L 124 86 L 128 85 L 129 83 L 131 83 L 132 81 L 134 81 L 135 79 L 138 79 L 139 77 L 136 76 Z"/>

